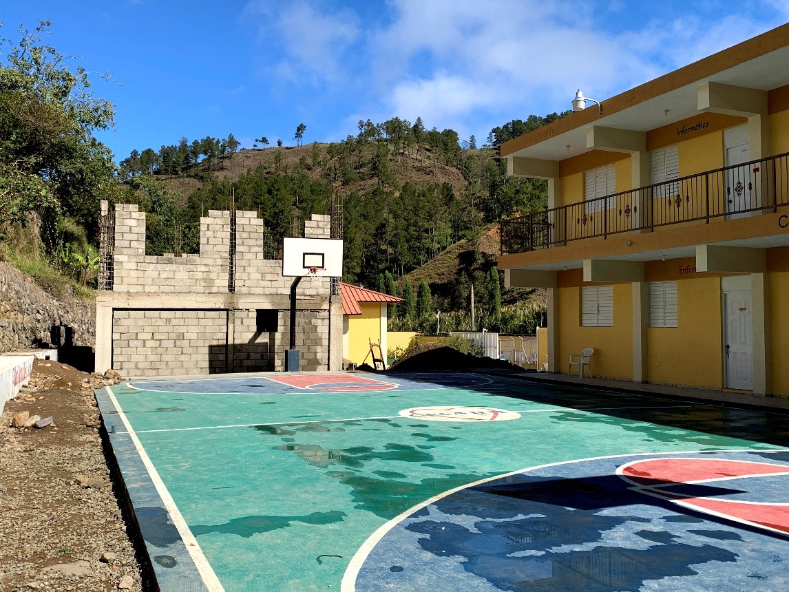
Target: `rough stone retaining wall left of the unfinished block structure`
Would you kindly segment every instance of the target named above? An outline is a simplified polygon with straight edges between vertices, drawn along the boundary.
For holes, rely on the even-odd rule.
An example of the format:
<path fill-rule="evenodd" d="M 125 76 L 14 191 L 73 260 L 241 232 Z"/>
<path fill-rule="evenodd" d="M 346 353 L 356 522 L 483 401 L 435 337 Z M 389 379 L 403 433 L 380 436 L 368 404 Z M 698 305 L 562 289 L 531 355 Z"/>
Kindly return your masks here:
<path fill-rule="evenodd" d="M 94 341 L 95 303 L 54 298 L 0 262 L 0 353 L 39 343 L 93 347 Z"/>

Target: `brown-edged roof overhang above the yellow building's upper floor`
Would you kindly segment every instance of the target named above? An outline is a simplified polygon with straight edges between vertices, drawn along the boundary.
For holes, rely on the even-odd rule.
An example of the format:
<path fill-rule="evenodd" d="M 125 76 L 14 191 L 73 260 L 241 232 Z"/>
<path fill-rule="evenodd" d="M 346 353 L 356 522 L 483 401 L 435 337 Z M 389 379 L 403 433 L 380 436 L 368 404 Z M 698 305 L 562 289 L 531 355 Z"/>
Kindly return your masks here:
<path fill-rule="evenodd" d="M 503 157 L 559 161 L 587 151 L 587 128 L 647 132 L 699 114 L 699 87 L 769 91 L 789 84 L 789 24 L 667 73 L 501 145 Z M 567 95 L 568 105 L 571 92 Z"/>

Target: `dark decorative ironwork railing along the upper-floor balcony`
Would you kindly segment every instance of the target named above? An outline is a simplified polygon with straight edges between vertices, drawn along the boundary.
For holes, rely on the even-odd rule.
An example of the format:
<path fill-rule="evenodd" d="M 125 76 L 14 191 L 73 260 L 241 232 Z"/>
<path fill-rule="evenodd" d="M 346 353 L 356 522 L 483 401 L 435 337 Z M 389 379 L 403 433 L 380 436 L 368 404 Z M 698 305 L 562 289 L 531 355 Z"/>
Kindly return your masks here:
<path fill-rule="evenodd" d="M 501 253 L 789 205 L 789 152 L 501 221 Z"/>

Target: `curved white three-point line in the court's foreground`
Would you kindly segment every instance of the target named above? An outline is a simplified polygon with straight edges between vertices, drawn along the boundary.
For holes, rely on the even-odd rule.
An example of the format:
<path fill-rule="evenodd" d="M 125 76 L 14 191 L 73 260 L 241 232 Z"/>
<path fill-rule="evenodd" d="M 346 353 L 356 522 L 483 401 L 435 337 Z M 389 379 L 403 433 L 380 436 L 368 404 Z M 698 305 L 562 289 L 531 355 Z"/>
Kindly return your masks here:
<path fill-rule="evenodd" d="M 342 583 L 340 583 L 340 592 L 356 592 L 356 579 L 359 575 L 359 571 L 361 570 L 361 566 L 365 564 L 365 560 L 369 556 L 372 549 L 375 549 L 376 545 L 381 541 L 381 539 L 386 536 L 386 534 L 401 523 L 403 520 L 412 515 L 415 511 L 419 511 L 422 508 L 428 507 L 430 504 L 435 504 L 438 500 L 442 500 L 444 497 L 451 496 L 453 493 L 458 493 L 458 491 L 462 491 L 463 489 L 469 489 L 471 487 L 476 487 L 477 485 L 482 485 L 484 483 L 488 483 L 490 481 L 495 481 L 496 479 L 503 479 L 507 477 L 512 477 L 513 475 L 526 473 L 527 471 L 532 470 L 540 470 L 548 468 L 548 466 L 559 466 L 559 465 L 567 465 L 573 463 L 584 463 L 589 460 L 605 460 L 605 459 L 619 459 L 625 456 L 649 456 L 649 455 L 688 455 L 688 454 L 699 454 L 701 452 L 783 452 L 786 451 L 787 448 L 744 448 L 744 449 L 736 449 L 736 450 L 684 450 L 684 451 L 677 451 L 677 452 L 632 452 L 630 454 L 623 454 L 623 455 L 605 455 L 605 456 L 590 456 L 586 459 L 573 459 L 573 460 L 563 460 L 559 461 L 559 463 L 546 463 L 543 465 L 535 465 L 535 466 L 527 466 L 525 469 L 518 469 L 510 471 L 509 473 L 502 473 L 500 475 L 495 475 L 494 477 L 488 477 L 484 479 L 480 479 L 479 481 L 473 481 L 472 483 L 467 483 L 466 485 L 460 485 L 455 487 L 454 489 L 449 489 L 443 493 L 439 493 L 436 496 L 432 496 L 428 500 L 424 500 L 421 504 L 417 504 L 412 508 L 402 512 L 394 516 L 393 519 L 389 520 L 387 523 L 379 526 L 379 528 L 373 532 L 367 540 L 362 543 L 359 550 L 357 550 L 356 554 L 351 557 L 350 563 L 346 568 L 345 574 L 342 575 Z"/>

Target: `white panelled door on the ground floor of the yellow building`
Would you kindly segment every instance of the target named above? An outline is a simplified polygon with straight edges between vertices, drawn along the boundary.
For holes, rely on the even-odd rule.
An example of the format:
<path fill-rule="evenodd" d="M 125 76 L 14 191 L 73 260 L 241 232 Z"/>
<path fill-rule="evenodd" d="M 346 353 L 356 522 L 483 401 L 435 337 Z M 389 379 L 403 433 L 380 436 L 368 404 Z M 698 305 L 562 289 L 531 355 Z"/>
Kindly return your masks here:
<path fill-rule="evenodd" d="M 750 292 L 724 293 L 724 364 L 726 388 L 753 390 L 753 339 Z"/>

